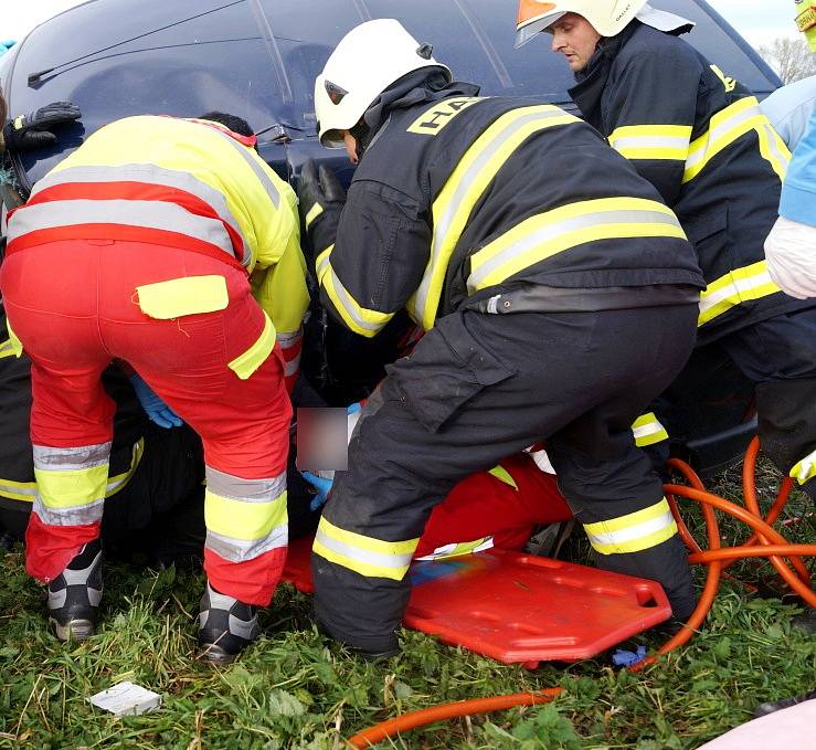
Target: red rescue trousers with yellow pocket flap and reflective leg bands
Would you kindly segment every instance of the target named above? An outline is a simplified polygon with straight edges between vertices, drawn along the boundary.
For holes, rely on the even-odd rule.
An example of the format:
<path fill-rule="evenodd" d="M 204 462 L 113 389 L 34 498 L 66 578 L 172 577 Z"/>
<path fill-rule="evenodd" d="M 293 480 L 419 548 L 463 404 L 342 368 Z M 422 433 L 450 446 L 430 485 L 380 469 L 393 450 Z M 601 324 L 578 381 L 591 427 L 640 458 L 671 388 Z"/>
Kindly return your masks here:
<path fill-rule="evenodd" d="M 202 276 L 218 277 L 222 288 L 218 279 L 225 281 L 222 304 L 184 294 L 194 282 L 176 281 Z M 174 284 L 150 289 L 171 293 L 165 300 L 176 306 L 173 317 L 151 317 L 137 287 L 165 282 Z M 292 405 L 280 347 L 273 348 L 274 328 L 246 273 L 187 250 L 68 240 L 9 254 L 0 287 L 32 363 L 38 496 L 27 531 L 29 573 L 54 579 L 99 535 L 114 413 L 99 377 L 118 359 L 201 435 L 211 584 L 268 604 L 288 541 Z"/>

